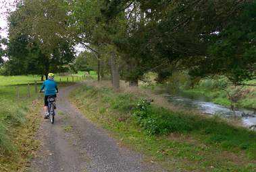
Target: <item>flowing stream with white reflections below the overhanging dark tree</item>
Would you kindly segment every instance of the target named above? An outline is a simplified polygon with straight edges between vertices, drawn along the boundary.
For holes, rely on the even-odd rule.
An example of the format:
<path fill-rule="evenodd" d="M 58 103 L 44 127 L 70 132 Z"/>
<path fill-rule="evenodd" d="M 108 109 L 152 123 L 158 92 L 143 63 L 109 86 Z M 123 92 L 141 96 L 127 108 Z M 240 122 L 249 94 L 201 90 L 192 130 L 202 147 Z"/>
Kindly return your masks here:
<path fill-rule="evenodd" d="M 197 110 L 203 114 L 217 115 L 222 118 L 240 118 L 242 124 L 247 127 L 256 125 L 256 114 L 252 110 L 238 109 L 230 110 L 227 107 L 209 102 L 210 99 L 202 95 L 187 95 L 185 93 L 178 93 L 171 95 L 163 93 L 163 96 L 168 98 L 168 101 L 174 105 L 182 105 L 185 110 Z"/>

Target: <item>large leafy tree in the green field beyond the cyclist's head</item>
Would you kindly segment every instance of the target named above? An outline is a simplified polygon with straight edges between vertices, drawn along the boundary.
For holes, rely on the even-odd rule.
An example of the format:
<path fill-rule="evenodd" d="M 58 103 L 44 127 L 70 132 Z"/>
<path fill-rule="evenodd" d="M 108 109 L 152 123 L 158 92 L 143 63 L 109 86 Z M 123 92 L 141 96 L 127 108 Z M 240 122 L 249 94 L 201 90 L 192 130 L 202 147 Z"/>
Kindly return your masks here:
<path fill-rule="evenodd" d="M 27 5 L 28 3 L 28 5 Z M 38 74 L 45 75 L 51 72 L 63 72 L 64 67 L 74 59 L 73 44 L 54 29 L 44 32 L 31 25 L 31 17 L 34 14 L 29 3 L 25 1 L 18 4 L 16 11 L 9 15 L 9 42 L 7 44 L 7 69 L 10 75 Z M 27 6 L 26 6 L 27 5 Z M 52 6 L 51 6 L 52 7 Z M 45 9 L 45 16 L 49 9 Z M 48 32 L 47 34 L 45 32 Z"/>

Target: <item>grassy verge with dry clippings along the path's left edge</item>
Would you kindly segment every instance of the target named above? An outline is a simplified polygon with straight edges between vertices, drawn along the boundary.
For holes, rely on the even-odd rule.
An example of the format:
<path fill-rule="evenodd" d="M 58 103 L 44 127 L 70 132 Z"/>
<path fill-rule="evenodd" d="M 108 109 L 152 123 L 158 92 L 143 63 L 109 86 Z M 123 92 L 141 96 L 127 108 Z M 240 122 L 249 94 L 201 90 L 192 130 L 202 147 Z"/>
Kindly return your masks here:
<path fill-rule="evenodd" d="M 41 101 L 34 100 L 26 107 L 23 105 L 11 107 L 8 120 L 5 119 L 8 125 L 5 126 L 4 134 L 1 131 L 0 171 L 26 171 L 28 160 L 39 148 L 40 143 L 35 139 L 35 134 L 42 119 Z M 20 113 L 13 114 L 12 111 Z"/>

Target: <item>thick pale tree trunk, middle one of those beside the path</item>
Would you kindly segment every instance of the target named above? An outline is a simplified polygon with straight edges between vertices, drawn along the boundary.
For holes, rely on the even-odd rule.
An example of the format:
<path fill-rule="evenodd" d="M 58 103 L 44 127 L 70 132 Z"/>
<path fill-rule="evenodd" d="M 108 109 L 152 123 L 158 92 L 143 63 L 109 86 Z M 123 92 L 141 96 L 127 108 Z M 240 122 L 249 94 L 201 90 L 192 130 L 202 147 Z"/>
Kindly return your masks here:
<path fill-rule="evenodd" d="M 120 76 L 119 76 L 118 62 L 116 58 L 117 58 L 116 54 L 112 52 L 109 58 L 109 64 L 111 68 L 112 86 L 113 86 L 113 89 L 118 91 L 120 89 Z"/>

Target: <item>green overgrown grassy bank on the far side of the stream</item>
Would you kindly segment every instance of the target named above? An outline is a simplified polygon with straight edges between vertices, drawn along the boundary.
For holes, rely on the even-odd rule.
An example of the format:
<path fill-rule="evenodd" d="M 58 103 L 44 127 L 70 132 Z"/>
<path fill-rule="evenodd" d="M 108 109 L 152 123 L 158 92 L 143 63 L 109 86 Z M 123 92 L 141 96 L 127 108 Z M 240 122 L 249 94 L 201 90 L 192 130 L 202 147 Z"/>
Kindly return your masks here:
<path fill-rule="evenodd" d="M 256 80 L 244 81 L 245 85 L 234 85 L 224 76 L 206 77 L 204 79 L 193 79 L 186 72 L 176 72 L 168 78 L 164 84 L 155 82 L 155 73 L 147 74 L 146 82 L 141 82 L 143 89 L 162 93 L 184 95 L 185 97 L 206 99 L 213 103 L 230 107 L 245 107 L 256 109 Z M 246 85 L 249 84 L 249 85 Z M 230 98 L 232 101 L 230 101 Z"/>

